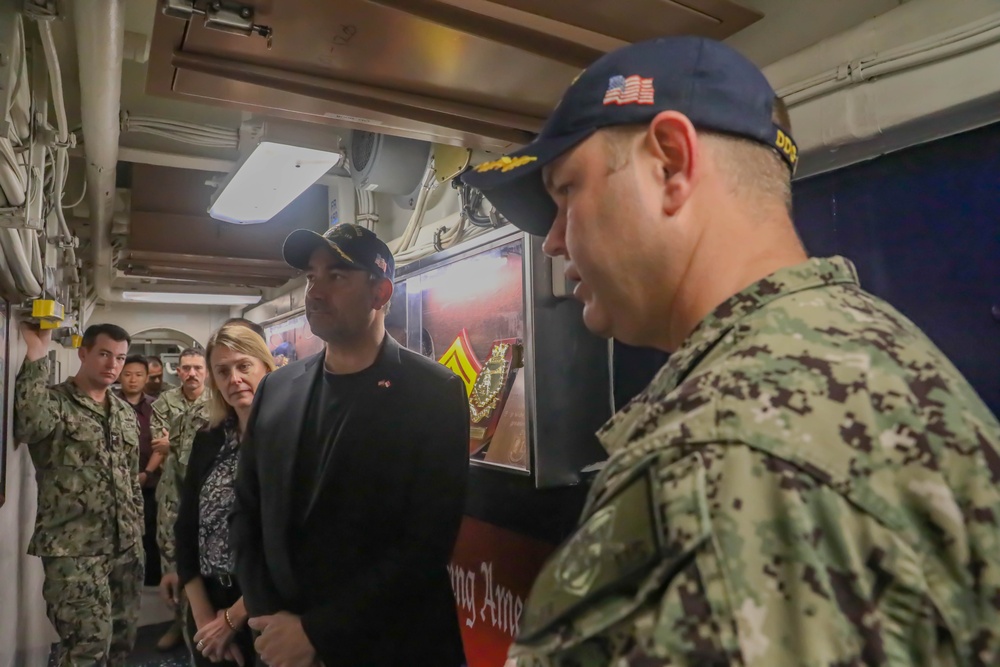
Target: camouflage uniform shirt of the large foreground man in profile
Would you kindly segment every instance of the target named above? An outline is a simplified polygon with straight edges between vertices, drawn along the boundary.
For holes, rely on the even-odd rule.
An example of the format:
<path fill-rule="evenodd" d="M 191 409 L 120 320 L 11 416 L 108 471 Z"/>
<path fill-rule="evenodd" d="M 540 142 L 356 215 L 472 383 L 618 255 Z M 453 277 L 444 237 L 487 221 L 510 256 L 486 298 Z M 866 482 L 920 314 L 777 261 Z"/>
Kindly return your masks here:
<path fill-rule="evenodd" d="M 727 300 L 599 437 L 518 665 L 1000 662 L 1000 425 L 847 260 Z"/>

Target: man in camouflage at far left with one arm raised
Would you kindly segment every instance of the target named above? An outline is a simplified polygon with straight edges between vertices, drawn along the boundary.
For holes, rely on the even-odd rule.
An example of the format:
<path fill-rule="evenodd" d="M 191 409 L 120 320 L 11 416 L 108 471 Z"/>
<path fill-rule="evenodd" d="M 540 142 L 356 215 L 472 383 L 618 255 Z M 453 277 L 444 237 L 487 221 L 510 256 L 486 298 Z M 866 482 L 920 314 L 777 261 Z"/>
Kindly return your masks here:
<path fill-rule="evenodd" d="M 28 353 L 14 385 L 14 438 L 38 481 L 28 553 L 45 569 L 42 594 L 59 634 L 57 664 L 124 665 L 135 644 L 143 580 L 139 424 L 108 387 L 130 339 L 89 327 L 72 380 L 48 387 L 51 331 L 21 327 Z"/>

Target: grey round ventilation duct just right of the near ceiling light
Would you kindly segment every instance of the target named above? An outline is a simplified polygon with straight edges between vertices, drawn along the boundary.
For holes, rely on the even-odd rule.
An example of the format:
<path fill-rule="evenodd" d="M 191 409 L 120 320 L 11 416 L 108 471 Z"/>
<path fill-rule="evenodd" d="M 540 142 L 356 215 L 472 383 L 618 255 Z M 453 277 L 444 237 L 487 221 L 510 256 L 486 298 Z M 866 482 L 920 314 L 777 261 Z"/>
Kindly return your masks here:
<path fill-rule="evenodd" d="M 410 195 L 430 160 L 431 145 L 362 130 L 351 132 L 351 179 L 359 190 Z"/>

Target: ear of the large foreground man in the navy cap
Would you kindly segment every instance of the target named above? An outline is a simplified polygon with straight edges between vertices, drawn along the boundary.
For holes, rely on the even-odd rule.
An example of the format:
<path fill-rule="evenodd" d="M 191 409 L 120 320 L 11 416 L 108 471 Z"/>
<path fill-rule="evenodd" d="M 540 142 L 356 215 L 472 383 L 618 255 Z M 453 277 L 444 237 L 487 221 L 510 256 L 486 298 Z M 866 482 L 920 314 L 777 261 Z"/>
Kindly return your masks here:
<path fill-rule="evenodd" d="M 664 111 L 650 122 L 645 143 L 663 185 L 663 212 L 675 215 L 691 197 L 700 175 L 698 132 L 684 114 Z"/>

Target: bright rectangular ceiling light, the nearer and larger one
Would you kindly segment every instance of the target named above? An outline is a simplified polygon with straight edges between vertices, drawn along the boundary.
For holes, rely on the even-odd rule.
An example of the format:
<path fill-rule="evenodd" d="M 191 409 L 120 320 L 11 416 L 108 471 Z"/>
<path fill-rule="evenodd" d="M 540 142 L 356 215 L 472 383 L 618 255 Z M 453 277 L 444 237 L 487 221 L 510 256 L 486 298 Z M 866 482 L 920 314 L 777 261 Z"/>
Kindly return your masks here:
<path fill-rule="evenodd" d="M 262 141 L 208 210 L 216 220 L 267 222 L 340 162 L 340 153 Z"/>

